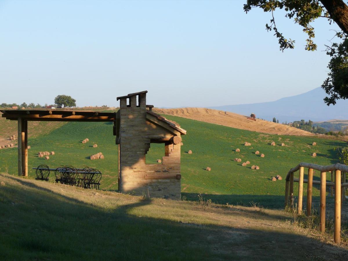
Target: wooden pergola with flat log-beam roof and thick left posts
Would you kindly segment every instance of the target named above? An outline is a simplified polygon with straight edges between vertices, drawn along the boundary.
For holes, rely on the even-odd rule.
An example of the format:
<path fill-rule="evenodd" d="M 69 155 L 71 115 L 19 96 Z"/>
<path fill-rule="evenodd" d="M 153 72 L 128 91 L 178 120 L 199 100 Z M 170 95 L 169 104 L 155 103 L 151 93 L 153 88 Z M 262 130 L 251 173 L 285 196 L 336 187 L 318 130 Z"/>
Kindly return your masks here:
<path fill-rule="evenodd" d="M 28 175 L 28 121 L 111 121 L 116 124 L 116 112 L 63 110 L 4 110 L 2 117 L 18 121 L 18 175 Z"/>

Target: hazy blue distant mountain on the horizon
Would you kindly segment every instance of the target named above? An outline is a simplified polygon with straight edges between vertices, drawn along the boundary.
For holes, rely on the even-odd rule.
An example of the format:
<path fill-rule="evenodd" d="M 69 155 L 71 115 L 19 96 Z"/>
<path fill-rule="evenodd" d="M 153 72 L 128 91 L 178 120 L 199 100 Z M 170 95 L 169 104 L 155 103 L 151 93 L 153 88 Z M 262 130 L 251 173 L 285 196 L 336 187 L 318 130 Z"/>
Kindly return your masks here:
<path fill-rule="evenodd" d="M 238 104 L 208 107 L 221 111 L 229 111 L 242 115 L 255 113 L 257 118 L 272 120 L 276 117 L 280 122 L 294 120 L 327 121 L 330 119 L 348 119 L 348 100 L 339 100 L 336 105 L 327 106 L 323 98 L 327 96 L 320 87 L 307 93 L 281 98 L 274 102 Z"/>

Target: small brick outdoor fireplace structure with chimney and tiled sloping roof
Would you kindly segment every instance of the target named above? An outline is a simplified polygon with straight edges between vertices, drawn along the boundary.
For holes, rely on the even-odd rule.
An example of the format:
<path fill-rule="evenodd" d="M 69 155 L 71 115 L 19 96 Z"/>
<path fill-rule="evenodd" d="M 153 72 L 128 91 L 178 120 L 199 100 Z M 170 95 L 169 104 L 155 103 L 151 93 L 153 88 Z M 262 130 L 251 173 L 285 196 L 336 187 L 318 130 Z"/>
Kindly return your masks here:
<path fill-rule="evenodd" d="M 114 135 L 119 144 L 118 188 L 135 195 L 180 198 L 181 135 L 186 130 L 152 112 L 153 105 L 146 105 L 146 93 L 117 97 L 120 110 L 114 121 Z M 145 163 L 151 143 L 164 144 L 161 164 Z"/>

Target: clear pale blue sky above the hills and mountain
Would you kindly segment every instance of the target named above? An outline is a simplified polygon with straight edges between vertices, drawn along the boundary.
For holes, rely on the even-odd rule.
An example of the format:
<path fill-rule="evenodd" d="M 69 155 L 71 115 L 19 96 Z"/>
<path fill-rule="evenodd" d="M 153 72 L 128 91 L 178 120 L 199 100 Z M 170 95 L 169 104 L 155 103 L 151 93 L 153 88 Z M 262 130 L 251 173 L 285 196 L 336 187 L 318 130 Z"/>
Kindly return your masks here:
<path fill-rule="evenodd" d="M 302 27 L 275 13 L 295 40 L 279 51 L 265 30 L 270 13 L 246 0 L 0 0 L 0 103 L 119 106 L 117 96 L 148 90 L 156 107 L 275 101 L 321 86 L 336 24 L 313 23 L 316 52 Z M 323 102 L 322 100 L 318 102 Z"/>

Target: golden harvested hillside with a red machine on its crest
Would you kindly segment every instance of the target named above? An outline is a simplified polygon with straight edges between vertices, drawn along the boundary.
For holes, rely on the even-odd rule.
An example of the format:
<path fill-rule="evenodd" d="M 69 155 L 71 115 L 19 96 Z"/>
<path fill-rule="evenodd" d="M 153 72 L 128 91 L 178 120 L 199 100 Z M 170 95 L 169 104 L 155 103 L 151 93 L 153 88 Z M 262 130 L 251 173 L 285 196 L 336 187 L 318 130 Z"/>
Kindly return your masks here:
<path fill-rule="evenodd" d="M 218 111 L 205 108 L 178 108 L 178 109 L 158 109 L 154 108 L 154 112 L 173 115 L 192 120 L 205 121 L 218 125 L 228 126 L 237 129 L 246 129 L 255 132 L 262 132 L 268 134 L 279 134 L 279 135 L 300 135 L 309 136 L 313 133 L 306 132 L 301 129 L 290 127 L 283 124 L 278 124 L 266 120 L 256 121 L 247 119 L 246 116 L 226 112 Z"/>

